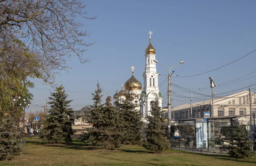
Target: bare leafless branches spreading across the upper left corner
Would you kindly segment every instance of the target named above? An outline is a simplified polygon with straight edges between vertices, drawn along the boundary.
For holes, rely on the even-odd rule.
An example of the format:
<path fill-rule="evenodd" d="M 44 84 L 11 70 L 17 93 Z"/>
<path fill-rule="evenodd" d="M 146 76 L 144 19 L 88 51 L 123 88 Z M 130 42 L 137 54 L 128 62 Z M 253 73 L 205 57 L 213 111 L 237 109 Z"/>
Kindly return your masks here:
<path fill-rule="evenodd" d="M 90 35 L 77 17 L 86 17 L 79 0 L 0 0 L 0 43 L 21 40 L 32 52 L 42 52 L 49 69 L 68 69 L 71 54 L 81 63 L 88 46 L 83 37 Z M 54 73 L 53 73 L 54 74 Z"/>

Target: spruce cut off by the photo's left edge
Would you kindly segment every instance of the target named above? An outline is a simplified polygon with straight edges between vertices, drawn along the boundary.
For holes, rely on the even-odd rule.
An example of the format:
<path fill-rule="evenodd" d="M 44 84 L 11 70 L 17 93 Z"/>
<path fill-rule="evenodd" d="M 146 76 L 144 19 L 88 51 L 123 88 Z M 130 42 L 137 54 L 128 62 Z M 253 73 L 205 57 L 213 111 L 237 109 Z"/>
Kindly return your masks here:
<path fill-rule="evenodd" d="M 12 115 L 0 121 L 0 160 L 20 155 L 23 138 Z"/>

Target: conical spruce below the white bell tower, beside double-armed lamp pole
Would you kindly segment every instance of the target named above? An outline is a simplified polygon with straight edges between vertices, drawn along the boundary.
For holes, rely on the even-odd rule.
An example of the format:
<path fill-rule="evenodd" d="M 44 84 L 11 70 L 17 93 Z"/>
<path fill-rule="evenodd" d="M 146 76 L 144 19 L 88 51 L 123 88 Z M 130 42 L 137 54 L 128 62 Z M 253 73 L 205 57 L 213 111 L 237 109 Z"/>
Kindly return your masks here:
<path fill-rule="evenodd" d="M 169 140 L 166 137 L 166 124 L 161 117 L 161 107 L 156 100 L 151 108 L 151 116 L 147 116 L 148 128 L 146 129 L 146 138 L 143 147 L 153 153 L 161 153 L 169 149 Z"/>

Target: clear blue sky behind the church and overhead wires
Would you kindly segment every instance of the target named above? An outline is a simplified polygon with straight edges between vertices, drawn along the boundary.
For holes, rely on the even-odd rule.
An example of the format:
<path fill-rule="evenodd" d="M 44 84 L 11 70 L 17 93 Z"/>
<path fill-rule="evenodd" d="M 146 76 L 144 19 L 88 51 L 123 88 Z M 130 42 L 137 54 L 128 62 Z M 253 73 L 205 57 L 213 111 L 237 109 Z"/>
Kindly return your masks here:
<path fill-rule="evenodd" d="M 113 97 L 116 87 L 120 91 L 120 84 L 131 77 L 131 66 L 135 67 L 134 75 L 143 84 L 148 31 L 153 32 L 152 45 L 160 63 L 172 67 L 185 61 L 173 68 L 180 76 L 172 78 L 175 85 L 211 95 L 209 77 L 217 85 L 243 77 L 214 88 L 216 96 L 223 96 L 225 94 L 221 93 L 241 89 L 256 81 L 256 52 L 213 72 L 184 77 L 216 69 L 256 49 L 255 0 L 84 0 L 84 4 L 88 17 L 98 14 L 96 20 L 79 18 L 86 24 L 84 29 L 91 32 L 84 40 L 95 41 L 84 55 L 93 60 L 81 64 L 73 57 L 70 61 L 73 69 L 61 72 L 62 75 L 56 78 L 56 83 L 65 87 L 68 99 L 73 100 L 71 107 L 75 110 L 92 104 L 90 92 L 96 89 L 97 80 L 104 90 L 103 101 L 107 95 Z M 157 65 L 157 72 L 168 74 L 160 65 Z M 166 77 L 159 76 L 159 83 L 164 80 Z M 27 112 L 43 110 L 46 97 L 54 92 L 49 85 L 41 85 L 40 80 L 34 82 L 35 88 L 31 89 L 34 100 Z M 167 106 L 166 81 L 160 86 L 163 106 Z M 256 86 L 251 88 L 255 92 Z M 248 88 L 227 94 L 243 90 Z M 172 86 L 172 92 L 173 107 L 190 103 L 189 91 Z M 193 99 L 195 102 L 211 98 L 196 94 L 193 97 L 199 97 Z"/>

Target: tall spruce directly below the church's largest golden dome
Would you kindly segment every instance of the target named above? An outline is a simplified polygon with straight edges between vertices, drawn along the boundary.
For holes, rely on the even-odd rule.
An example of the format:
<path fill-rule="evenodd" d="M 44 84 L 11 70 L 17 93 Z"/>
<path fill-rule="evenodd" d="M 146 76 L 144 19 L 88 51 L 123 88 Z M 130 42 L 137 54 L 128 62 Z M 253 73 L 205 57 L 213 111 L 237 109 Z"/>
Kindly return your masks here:
<path fill-rule="evenodd" d="M 116 108 L 120 112 L 122 119 L 123 144 L 140 144 L 143 137 L 143 121 L 140 117 L 140 112 L 134 104 L 134 93 L 129 83 L 126 84 L 127 93 L 125 100 L 122 103 L 116 102 Z"/>

